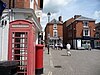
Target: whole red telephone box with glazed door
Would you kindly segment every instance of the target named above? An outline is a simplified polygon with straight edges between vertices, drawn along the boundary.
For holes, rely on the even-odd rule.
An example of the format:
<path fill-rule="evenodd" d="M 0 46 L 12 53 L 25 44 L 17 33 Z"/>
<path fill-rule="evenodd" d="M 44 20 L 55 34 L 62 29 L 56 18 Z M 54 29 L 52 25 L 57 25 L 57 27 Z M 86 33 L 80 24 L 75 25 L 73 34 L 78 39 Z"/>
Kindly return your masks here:
<path fill-rule="evenodd" d="M 18 75 L 35 75 L 35 25 L 26 20 L 10 22 L 8 59 L 19 62 Z"/>

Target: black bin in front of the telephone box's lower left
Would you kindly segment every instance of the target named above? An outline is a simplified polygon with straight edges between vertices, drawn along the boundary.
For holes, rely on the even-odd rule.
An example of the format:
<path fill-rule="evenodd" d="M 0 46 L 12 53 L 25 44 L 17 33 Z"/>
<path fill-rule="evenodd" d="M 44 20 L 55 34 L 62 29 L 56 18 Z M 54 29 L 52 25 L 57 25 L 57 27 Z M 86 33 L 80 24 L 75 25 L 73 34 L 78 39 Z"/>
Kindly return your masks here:
<path fill-rule="evenodd" d="M 0 75 L 17 75 L 18 62 L 0 61 Z"/>

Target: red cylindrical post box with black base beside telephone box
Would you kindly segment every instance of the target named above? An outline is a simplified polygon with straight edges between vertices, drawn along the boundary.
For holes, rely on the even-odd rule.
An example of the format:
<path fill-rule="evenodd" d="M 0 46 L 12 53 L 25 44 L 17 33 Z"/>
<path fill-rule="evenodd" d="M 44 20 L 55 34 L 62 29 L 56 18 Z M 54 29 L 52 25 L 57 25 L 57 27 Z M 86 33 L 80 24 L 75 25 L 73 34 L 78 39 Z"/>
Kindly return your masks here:
<path fill-rule="evenodd" d="M 43 47 L 42 44 L 36 45 L 35 74 L 43 74 Z"/>

